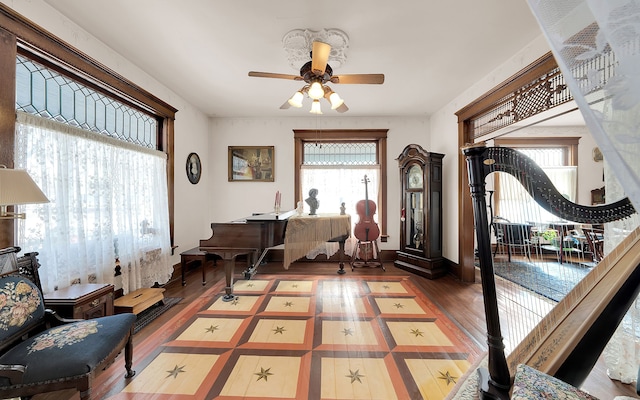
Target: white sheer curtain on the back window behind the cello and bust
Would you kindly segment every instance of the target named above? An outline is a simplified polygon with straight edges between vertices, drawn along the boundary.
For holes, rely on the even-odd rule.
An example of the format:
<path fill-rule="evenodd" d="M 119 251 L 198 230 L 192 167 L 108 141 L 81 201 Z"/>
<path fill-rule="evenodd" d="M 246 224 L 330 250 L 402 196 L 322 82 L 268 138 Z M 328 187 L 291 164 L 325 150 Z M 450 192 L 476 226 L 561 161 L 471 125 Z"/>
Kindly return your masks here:
<path fill-rule="evenodd" d="M 345 203 L 345 212 L 351 215 L 351 225 L 358 221 L 356 204 L 365 198 L 364 177 L 368 178 L 367 192 L 369 200 L 379 204 L 378 193 L 380 188 L 380 169 L 377 167 L 321 167 L 303 166 L 301 169 L 301 188 L 304 199 L 307 198 L 309 190 L 318 189 L 318 199 L 320 207 L 318 214 L 340 213 L 340 205 Z M 307 204 L 303 201 L 305 213 L 309 212 Z M 374 216 L 376 222 L 380 217 L 377 213 Z M 345 253 L 352 254 L 353 247 L 357 240 L 351 237 L 345 243 Z M 319 254 L 331 256 L 338 251 L 337 243 L 325 243 L 313 252 L 307 254 L 308 258 L 314 258 Z"/>

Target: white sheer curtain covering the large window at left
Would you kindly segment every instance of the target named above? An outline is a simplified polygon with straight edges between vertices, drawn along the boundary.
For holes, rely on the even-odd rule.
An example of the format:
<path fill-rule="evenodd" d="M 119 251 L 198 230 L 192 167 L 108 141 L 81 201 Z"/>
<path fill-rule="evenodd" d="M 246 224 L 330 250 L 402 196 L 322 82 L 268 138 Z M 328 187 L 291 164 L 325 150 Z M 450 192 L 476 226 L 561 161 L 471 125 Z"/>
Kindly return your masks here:
<path fill-rule="evenodd" d="M 171 277 L 166 155 L 18 113 L 16 168 L 50 200 L 23 207 L 16 244 L 39 252 L 45 292 L 114 283 L 125 293 Z"/>

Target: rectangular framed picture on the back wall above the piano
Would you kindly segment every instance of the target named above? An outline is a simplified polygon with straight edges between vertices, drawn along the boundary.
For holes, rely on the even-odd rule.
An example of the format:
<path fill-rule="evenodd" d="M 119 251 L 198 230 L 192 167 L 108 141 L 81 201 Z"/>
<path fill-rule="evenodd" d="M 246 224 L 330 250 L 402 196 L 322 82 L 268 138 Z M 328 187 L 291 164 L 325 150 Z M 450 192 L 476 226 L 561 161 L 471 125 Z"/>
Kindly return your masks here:
<path fill-rule="evenodd" d="M 273 146 L 229 146 L 229 182 L 273 182 Z"/>

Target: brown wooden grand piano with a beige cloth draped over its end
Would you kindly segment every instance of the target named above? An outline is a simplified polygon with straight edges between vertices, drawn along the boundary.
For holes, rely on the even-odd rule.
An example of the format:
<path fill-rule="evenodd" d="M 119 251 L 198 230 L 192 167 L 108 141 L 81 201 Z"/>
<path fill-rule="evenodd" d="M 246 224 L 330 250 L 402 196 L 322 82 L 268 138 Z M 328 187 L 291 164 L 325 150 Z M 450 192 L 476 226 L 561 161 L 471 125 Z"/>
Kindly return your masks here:
<path fill-rule="evenodd" d="M 295 216 L 295 210 L 284 213 L 257 214 L 231 222 L 212 223 L 212 235 L 200 240 L 198 251 L 214 254 L 222 258 L 225 274 L 224 301 L 232 301 L 233 278 L 236 258 L 246 255 L 249 266 L 244 271 L 245 279 L 250 279 L 267 251 L 280 244 L 285 245 L 285 265 L 303 256 L 321 242 L 338 242 L 340 246 L 339 274 L 344 274 L 344 244 L 350 236 L 351 219 L 348 215 Z M 290 219 L 292 221 L 290 221 Z M 294 225 L 292 228 L 291 225 Z M 285 234 L 288 236 L 285 239 Z M 259 257 L 258 257 L 259 254 Z M 183 268 L 184 271 L 184 268 Z M 203 267 L 204 277 L 204 267 Z M 183 278 L 184 284 L 184 278 Z M 204 284 L 204 278 L 203 278 Z"/>

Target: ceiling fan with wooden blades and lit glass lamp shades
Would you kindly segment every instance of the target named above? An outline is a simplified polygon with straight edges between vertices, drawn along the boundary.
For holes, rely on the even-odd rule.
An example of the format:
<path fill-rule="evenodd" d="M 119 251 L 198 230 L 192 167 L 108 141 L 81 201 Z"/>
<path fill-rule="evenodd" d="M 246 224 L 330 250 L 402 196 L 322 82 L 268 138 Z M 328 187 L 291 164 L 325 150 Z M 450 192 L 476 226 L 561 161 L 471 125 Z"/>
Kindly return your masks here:
<path fill-rule="evenodd" d="M 312 114 L 322 114 L 320 99 L 325 98 L 331 103 L 331 109 L 343 113 L 349 108 L 344 104 L 344 100 L 338 96 L 326 83 L 336 84 L 382 84 L 384 74 L 349 74 L 333 75 L 333 69 L 329 64 L 329 54 L 331 45 L 323 42 L 313 42 L 311 51 L 311 61 L 305 63 L 300 68 L 300 75 L 277 74 L 271 72 L 250 71 L 249 76 L 258 78 L 289 79 L 294 81 L 304 81 L 306 85 L 298 90 L 280 108 L 286 109 L 291 106 L 302 107 L 302 100 L 306 94 L 313 99 L 311 105 Z"/>

